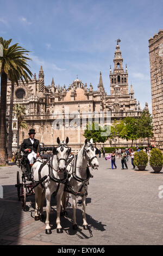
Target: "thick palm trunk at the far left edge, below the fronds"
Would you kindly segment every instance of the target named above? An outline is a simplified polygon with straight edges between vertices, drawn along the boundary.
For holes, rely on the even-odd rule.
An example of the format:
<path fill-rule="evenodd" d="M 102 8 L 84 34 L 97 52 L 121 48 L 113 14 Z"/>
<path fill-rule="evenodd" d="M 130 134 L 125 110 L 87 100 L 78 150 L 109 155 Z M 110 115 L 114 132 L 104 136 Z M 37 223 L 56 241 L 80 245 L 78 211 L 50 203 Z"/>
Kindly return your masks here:
<path fill-rule="evenodd" d="M 5 165 L 5 154 L 7 153 L 6 141 L 6 103 L 7 103 L 7 74 L 4 72 L 4 65 L 2 65 L 1 73 L 1 108 L 0 108 L 0 165 Z"/>

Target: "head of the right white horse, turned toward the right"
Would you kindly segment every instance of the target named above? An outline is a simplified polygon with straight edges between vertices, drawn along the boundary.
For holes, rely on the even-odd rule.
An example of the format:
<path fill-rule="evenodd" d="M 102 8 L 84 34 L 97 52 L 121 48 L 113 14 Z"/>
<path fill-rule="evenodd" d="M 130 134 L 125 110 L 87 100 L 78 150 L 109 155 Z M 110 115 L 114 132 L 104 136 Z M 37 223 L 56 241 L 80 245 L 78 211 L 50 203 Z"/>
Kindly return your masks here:
<path fill-rule="evenodd" d="M 93 139 L 85 139 L 83 156 L 86 156 L 87 161 L 93 169 L 98 169 L 99 163 L 96 156 L 96 148 L 93 147 Z"/>

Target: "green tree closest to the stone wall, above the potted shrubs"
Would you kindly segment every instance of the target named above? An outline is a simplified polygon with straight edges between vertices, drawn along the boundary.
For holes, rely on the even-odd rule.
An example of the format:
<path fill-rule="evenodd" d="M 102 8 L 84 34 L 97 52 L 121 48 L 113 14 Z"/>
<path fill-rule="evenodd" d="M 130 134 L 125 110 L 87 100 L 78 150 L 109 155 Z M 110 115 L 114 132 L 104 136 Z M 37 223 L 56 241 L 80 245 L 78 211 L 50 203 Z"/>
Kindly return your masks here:
<path fill-rule="evenodd" d="M 138 120 L 139 130 L 137 131 L 139 138 L 147 138 L 149 145 L 149 138 L 153 137 L 152 115 L 148 110 L 143 110 Z"/>

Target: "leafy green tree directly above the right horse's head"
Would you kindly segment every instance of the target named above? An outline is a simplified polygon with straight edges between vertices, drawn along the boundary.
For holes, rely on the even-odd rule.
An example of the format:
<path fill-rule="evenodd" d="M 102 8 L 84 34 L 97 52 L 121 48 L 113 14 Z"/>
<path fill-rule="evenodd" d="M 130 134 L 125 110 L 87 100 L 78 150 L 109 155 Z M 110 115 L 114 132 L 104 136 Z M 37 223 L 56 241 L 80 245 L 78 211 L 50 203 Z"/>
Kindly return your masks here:
<path fill-rule="evenodd" d="M 108 139 L 109 136 L 109 126 L 104 126 L 103 128 L 99 126 L 97 122 L 89 122 L 86 124 L 86 129 L 84 130 L 83 136 L 87 139 L 93 139 L 93 142 L 105 142 Z"/>

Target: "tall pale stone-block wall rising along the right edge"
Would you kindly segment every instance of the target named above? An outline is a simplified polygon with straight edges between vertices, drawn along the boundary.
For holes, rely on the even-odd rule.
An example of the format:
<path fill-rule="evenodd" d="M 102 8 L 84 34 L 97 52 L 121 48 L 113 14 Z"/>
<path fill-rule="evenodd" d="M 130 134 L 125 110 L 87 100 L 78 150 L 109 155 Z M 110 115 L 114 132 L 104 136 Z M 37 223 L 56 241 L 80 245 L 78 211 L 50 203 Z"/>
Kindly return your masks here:
<path fill-rule="evenodd" d="M 163 150 L 163 31 L 149 39 L 152 115 L 155 145 Z"/>

